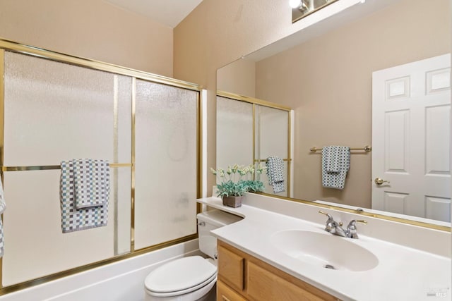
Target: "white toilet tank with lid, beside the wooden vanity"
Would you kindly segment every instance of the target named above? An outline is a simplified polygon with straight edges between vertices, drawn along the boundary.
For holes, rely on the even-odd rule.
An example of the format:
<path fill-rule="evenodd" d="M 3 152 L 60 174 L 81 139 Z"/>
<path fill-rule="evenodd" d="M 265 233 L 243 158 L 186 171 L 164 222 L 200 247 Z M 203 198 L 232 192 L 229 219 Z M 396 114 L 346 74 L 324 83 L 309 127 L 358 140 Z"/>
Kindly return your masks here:
<path fill-rule="evenodd" d="M 199 250 L 210 258 L 217 254 L 217 239 L 210 231 L 242 220 L 242 217 L 221 210 L 209 210 L 198 214 Z"/>

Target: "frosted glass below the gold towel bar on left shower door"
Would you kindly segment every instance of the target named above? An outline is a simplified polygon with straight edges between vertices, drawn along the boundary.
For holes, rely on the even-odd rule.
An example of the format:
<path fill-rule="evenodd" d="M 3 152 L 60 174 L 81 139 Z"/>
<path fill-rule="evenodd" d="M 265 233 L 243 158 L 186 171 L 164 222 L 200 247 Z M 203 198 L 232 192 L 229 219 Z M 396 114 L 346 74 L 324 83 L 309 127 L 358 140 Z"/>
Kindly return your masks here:
<path fill-rule="evenodd" d="M 121 185 L 127 185 L 130 171 L 120 173 Z M 111 201 L 107 226 L 61 233 L 59 176 L 58 170 L 4 173 L 7 209 L 4 213 L 3 285 L 114 256 L 114 206 Z M 112 191 L 116 189 L 112 185 Z M 121 207 L 130 206 L 130 197 L 128 199 L 123 190 L 119 191 Z M 124 221 L 119 228 L 121 231 L 130 229 L 130 221 L 129 224 Z"/>

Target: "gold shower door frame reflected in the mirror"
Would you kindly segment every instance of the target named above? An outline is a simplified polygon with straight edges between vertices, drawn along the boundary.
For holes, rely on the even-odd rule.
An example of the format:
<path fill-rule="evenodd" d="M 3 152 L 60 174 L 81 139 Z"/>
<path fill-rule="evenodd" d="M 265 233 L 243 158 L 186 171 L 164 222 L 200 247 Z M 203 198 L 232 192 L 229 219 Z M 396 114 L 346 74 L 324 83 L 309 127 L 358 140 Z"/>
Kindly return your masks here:
<path fill-rule="evenodd" d="M 252 152 L 253 152 L 253 163 L 259 163 L 259 162 L 265 162 L 266 159 L 256 159 L 256 105 L 259 106 L 266 106 L 268 108 L 272 109 L 278 109 L 281 111 L 287 111 L 287 158 L 284 158 L 283 161 L 287 161 L 287 196 L 290 197 L 290 191 L 291 191 L 291 173 L 292 173 L 292 143 L 291 143 L 291 135 L 292 135 L 292 117 L 291 117 L 291 111 L 292 109 L 288 106 L 282 106 L 280 104 L 275 104 L 273 102 L 267 102 L 266 100 L 257 99 L 254 97 L 247 97 L 242 96 L 239 94 L 234 94 L 231 92 L 225 92 L 218 90 L 217 96 L 219 97 L 225 97 L 228 99 L 237 100 L 239 102 L 247 102 L 249 104 L 253 105 L 253 133 L 252 133 Z M 262 192 L 263 193 L 263 192 Z M 263 195 L 271 195 L 268 193 L 263 193 Z M 271 195 L 273 196 L 273 195 Z"/>

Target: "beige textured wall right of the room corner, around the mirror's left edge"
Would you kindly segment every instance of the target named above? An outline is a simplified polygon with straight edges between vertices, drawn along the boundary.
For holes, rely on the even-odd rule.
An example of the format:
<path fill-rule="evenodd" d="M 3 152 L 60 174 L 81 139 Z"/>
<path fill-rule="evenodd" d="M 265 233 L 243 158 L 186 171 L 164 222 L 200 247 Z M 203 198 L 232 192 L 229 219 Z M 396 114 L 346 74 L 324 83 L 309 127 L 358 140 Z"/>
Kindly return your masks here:
<path fill-rule="evenodd" d="M 292 24 L 287 0 L 204 0 L 174 28 L 174 77 L 208 90 L 208 167 L 215 166 L 216 156 L 217 69 L 307 27 L 319 18 L 314 15 Z M 211 192 L 215 178 L 210 173 L 208 181 Z"/>

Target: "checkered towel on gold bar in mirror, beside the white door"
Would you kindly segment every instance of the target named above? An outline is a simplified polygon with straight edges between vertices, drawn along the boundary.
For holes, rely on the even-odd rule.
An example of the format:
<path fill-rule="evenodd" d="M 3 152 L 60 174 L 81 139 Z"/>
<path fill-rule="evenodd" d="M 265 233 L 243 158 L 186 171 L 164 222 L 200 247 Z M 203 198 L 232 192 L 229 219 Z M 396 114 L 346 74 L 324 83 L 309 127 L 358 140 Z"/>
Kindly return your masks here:
<path fill-rule="evenodd" d="M 322 185 L 344 189 L 350 168 L 350 147 L 328 146 L 322 149 Z"/>

